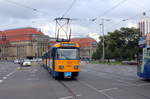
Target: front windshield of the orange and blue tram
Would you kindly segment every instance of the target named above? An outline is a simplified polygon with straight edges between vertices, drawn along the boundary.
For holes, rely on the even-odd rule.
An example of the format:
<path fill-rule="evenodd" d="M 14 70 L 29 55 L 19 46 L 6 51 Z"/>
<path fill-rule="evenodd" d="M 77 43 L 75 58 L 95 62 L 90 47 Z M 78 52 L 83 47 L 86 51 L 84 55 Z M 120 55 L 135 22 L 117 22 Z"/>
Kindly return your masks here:
<path fill-rule="evenodd" d="M 57 59 L 79 59 L 79 49 L 57 49 Z"/>

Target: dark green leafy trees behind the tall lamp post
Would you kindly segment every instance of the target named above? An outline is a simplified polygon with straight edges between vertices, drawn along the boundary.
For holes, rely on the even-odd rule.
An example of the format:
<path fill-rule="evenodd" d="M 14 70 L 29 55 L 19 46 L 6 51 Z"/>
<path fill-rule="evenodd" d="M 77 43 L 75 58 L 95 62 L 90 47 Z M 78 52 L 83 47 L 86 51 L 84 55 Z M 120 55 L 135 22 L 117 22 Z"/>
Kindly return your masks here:
<path fill-rule="evenodd" d="M 135 55 L 141 52 L 138 47 L 140 37 L 139 30 L 136 28 L 121 28 L 114 32 L 109 32 L 104 36 L 105 59 L 132 60 Z M 100 42 L 96 52 L 93 54 L 94 59 L 101 59 L 103 37 L 100 36 Z"/>

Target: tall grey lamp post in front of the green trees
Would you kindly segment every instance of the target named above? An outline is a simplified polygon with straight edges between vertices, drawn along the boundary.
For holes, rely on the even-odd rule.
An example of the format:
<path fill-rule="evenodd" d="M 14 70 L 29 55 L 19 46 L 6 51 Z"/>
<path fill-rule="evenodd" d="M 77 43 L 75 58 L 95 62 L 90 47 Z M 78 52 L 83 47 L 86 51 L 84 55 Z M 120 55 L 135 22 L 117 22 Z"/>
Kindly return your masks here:
<path fill-rule="evenodd" d="M 104 32 L 105 32 L 105 27 L 104 27 L 104 22 L 105 21 L 110 21 L 110 19 L 101 19 L 102 20 L 102 23 L 101 24 L 99 24 L 100 25 L 100 30 L 102 29 L 102 31 L 100 31 L 100 32 L 102 32 L 102 34 L 103 34 L 103 54 L 102 54 L 102 60 L 104 61 L 105 60 L 105 43 L 104 43 Z M 101 27 L 102 26 L 102 27 Z"/>

